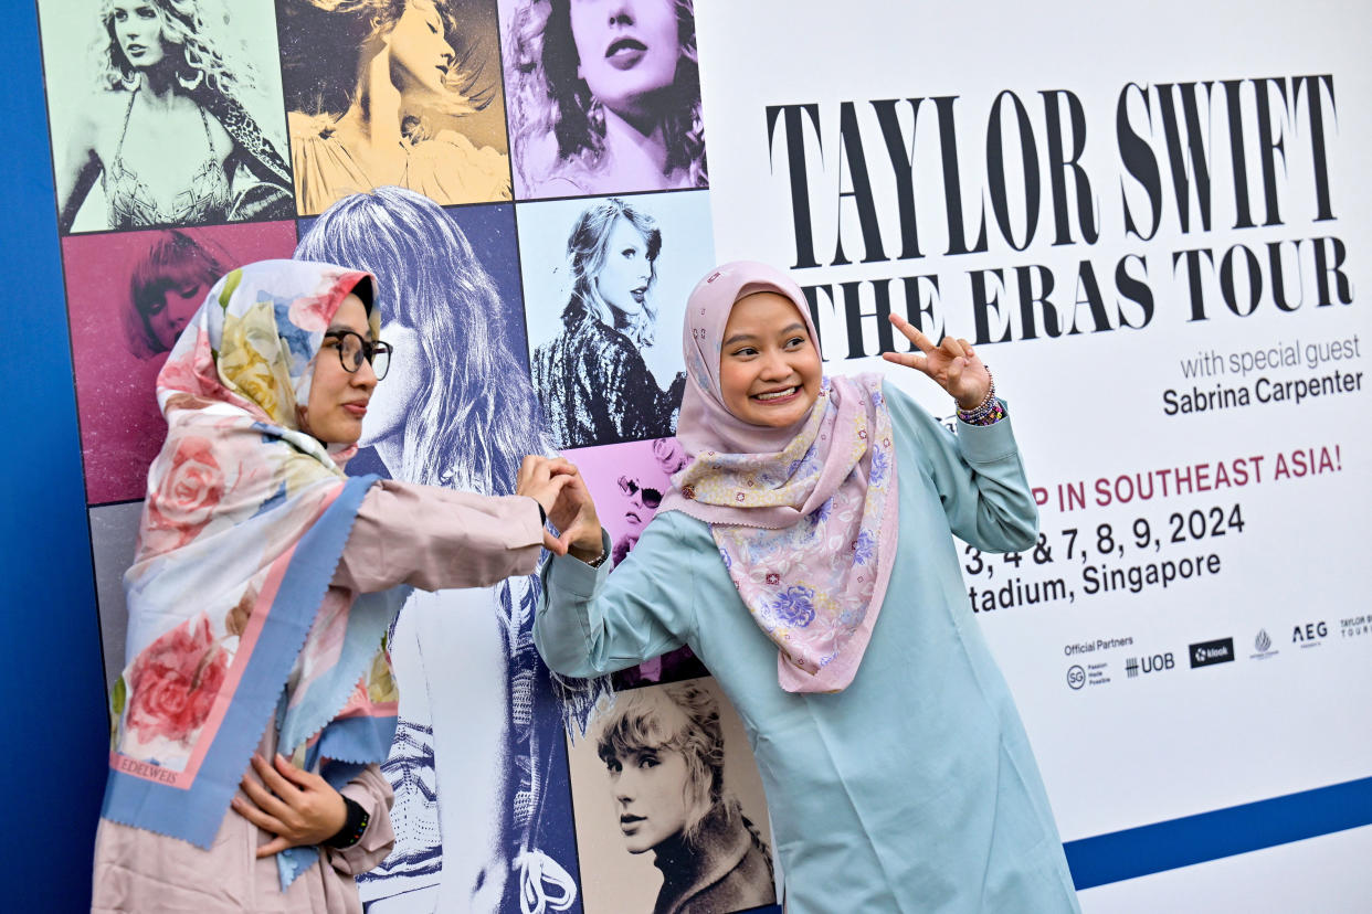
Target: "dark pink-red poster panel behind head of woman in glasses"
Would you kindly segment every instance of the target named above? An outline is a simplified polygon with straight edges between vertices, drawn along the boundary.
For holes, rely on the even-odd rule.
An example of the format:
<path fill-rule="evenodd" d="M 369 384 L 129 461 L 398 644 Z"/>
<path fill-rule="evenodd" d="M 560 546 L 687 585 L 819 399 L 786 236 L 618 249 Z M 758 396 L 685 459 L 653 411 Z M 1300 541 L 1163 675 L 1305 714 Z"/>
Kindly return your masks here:
<path fill-rule="evenodd" d="M 295 248 L 295 222 L 71 236 L 66 264 L 91 504 L 141 499 L 166 437 L 156 377 L 210 286 Z"/>

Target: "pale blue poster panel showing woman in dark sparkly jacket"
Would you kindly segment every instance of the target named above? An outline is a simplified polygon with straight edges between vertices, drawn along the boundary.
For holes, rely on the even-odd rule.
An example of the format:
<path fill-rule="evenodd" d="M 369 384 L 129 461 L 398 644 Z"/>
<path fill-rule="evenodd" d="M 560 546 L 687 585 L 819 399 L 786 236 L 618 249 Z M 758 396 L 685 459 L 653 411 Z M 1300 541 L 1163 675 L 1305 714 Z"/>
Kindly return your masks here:
<path fill-rule="evenodd" d="M 530 369 L 557 447 L 672 434 L 708 192 L 519 204 Z"/>

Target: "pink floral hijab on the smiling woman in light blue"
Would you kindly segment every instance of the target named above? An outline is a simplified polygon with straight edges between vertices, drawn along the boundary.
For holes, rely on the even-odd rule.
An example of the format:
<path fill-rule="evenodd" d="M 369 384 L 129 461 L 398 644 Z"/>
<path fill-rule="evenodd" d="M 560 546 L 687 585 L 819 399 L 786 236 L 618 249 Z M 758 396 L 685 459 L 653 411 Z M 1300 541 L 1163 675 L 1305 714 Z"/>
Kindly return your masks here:
<path fill-rule="evenodd" d="M 691 292 L 683 347 L 686 395 L 676 437 L 691 462 L 661 510 L 709 523 L 738 593 L 778 648 L 788 692 L 852 682 L 881 611 L 896 554 L 896 466 L 881 375 L 826 377 L 796 425 L 735 418 L 719 385 L 734 303 L 777 292 L 818 341 L 805 297 L 763 263 L 715 269 Z"/>

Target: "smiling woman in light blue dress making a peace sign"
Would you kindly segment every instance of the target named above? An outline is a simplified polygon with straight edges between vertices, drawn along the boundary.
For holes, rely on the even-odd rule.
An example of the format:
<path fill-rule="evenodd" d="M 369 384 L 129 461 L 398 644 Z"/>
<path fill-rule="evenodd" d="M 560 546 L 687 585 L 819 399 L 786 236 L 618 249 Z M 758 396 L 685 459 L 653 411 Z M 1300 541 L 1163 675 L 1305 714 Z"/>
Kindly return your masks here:
<path fill-rule="evenodd" d="M 584 485 L 535 644 L 593 676 L 690 648 L 767 789 L 790 914 L 1076 911 L 1043 782 L 966 600 L 954 537 L 1025 549 L 1037 511 L 965 340 L 886 359 L 958 402 L 956 434 L 881 375 L 825 377 L 800 288 L 730 263 L 687 304 L 691 458 L 613 574 Z M 600 565 L 600 567 L 597 567 Z"/>

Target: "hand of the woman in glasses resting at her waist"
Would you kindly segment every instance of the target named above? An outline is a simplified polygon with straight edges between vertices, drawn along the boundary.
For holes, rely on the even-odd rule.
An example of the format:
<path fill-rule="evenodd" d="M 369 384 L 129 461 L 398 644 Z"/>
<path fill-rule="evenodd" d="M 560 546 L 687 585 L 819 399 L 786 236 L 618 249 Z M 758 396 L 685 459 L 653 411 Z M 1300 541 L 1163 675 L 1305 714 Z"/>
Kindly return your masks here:
<path fill-rule="evenodd" d="M 235 796 L 233 810 L 276 837 L 257 850 L 270 856 L 288 847 L 325 841 L 343 828 L 347 806 L 343 795 L 318 774 L 302 770 L 277 755 L 273 767 L 261 755 L 252 755 L 252 770 L 261 780 L 244 774 L 240 787 L 248 795 Z"/>

